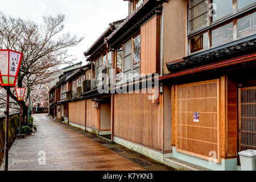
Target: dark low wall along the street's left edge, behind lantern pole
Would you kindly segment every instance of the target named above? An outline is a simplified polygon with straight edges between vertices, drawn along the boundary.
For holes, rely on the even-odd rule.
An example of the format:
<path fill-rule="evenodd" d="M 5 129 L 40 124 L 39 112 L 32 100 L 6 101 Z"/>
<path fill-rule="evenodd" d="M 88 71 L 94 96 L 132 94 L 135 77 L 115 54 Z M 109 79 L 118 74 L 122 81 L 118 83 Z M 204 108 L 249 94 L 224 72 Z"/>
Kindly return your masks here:
<path fill-rule="evenodd" d="M 19 127 L 19 113 L 10 114 L 9 118 L 9 149 L 15 140 L 15 133 Z M 0 165 L 5 151 L 5 115 L 0 115 Z"/>

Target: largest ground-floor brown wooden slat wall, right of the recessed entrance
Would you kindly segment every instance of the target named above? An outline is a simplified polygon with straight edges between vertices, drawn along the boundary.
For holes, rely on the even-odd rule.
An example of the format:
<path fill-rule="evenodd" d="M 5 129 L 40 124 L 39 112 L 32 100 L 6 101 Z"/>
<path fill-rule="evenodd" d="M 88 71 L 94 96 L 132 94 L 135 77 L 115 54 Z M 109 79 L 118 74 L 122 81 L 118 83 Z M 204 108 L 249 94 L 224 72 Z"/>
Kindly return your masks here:
<path fill-rule="evenodd" d="M 161 126 L 160 104 L 148 94 L 115 94 L 114 136 L 162 150 Z"/>

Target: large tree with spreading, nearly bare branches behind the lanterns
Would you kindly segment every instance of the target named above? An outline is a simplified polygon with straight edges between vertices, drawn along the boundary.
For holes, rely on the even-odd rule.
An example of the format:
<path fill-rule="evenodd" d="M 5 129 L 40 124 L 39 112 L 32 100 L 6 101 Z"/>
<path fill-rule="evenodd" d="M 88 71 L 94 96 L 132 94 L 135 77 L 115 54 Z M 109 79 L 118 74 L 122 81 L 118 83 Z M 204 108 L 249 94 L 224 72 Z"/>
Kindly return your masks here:
<path fill-rule="evenodd" d="M 32 90 L 36 90 L 51 81 L 59 65 L 72 64 L 74 59 L 67 55 L 67 48 L 77 46 L 83 39 L 63 33 L 64 15 L 42 18 L 43 23 L 39 25 L 31 20 L 11 18 L 0 13 L 0 49 L 13 49 L 23 53 L 16 86 L 27 87 L 27 90 L 28 81 L 32 81 Z M 11 104 L 18 104 L 15 89 L 3 87 L 0 89 L 1 106 L 5 105 L 6 91 L 10 94 Z M 27 100 L 28 94 L 21 102 L 24 122 L 27 119 Z M 14 110 L 18 108 L 17 105 L 13 107 Z"/>

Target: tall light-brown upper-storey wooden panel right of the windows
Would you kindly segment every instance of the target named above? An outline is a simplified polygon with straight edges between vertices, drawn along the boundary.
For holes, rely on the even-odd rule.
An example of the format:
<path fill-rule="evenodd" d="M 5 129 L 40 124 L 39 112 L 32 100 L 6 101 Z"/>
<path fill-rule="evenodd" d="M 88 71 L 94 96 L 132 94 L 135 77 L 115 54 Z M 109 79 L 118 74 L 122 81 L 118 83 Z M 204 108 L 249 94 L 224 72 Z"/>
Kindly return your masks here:
<path fill-rule="evenodd" d="M 160 18 L 156 15 L 141 27 L 141 73 L 159 72 Z"/>

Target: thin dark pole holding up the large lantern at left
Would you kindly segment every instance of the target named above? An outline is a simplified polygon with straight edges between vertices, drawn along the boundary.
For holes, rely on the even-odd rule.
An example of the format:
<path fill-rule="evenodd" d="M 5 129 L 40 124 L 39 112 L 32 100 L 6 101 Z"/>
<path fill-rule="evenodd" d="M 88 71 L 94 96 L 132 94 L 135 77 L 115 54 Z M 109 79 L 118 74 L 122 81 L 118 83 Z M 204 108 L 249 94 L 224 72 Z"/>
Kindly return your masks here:
<path fill-rule="evenodd" d="M 6 90 L 6 119 L 5 119 L 5 171 L 8 171 L 8 152 L 9 152 L 9 87 Z"/>

